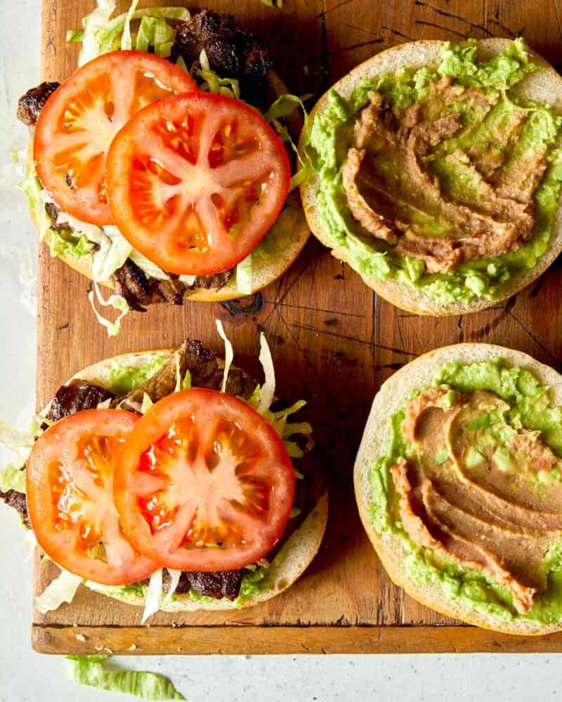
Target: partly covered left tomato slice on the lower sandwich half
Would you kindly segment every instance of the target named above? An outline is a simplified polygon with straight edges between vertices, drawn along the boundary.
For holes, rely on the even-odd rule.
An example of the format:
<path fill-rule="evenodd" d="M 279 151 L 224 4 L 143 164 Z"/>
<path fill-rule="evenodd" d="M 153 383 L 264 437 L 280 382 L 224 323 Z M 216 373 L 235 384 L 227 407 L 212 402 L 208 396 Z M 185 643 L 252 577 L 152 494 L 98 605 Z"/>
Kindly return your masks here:
<path fill-rule="evenodd" d="M 123 535 L 113 501 L 114 471 L 138 416 L 87 409 L 59 420 L 27 461 L 27 509 L 37 543 L 75 575 L 103 585 L 146 578 L 157 564 Z"/>

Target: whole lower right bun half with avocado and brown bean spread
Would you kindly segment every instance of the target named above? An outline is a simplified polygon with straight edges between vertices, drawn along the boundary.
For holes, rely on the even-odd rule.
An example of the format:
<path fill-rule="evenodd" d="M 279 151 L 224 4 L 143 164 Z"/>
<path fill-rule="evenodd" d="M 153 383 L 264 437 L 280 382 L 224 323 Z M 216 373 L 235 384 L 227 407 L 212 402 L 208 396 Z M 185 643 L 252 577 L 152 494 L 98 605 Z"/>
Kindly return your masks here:
<path fill-rule="evenodd" d="M 415 600 L 510 634 L 562 629 L 562 376 L 482 343 L 381 386 L 355 462 L 363 526 Z"/>

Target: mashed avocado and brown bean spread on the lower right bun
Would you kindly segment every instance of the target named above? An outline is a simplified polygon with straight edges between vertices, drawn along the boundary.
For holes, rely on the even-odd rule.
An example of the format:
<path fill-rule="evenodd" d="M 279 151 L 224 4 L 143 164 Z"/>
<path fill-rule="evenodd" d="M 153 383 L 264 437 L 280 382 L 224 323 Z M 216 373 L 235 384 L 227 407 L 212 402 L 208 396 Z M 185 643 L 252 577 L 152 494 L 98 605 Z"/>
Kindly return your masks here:
<path fill-rule="evenodd" d="M 371 518 L 407 577 L 481 614 L 562 619 L 562 408 L 497 358 L 440 368 L 390 419 Z"/>

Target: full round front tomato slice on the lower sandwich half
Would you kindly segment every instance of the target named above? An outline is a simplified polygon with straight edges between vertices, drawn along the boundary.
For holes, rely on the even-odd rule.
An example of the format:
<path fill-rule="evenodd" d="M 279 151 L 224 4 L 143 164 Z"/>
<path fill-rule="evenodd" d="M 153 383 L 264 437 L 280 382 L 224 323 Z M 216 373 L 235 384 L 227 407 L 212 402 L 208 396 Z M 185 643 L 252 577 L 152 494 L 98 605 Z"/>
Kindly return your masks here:
<path fill-rule="evenodd" d="M 279 540 L 293 498 L 294 469 L 273 427 L 237 397 L 201 388 L 154 404 L 115 474 L 129 541 L 186 571 L 258 561 Z"/>

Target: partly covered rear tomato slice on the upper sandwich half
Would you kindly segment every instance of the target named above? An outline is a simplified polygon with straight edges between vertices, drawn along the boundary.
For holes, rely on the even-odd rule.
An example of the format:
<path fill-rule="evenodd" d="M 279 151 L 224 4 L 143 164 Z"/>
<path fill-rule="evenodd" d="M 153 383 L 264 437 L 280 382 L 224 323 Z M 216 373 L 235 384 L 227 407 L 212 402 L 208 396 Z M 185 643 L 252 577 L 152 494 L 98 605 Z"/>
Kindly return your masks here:
<path fill-rule="evenodd" d="M 142 51 L 113 51 L 86 63 L 48 98 L 35 129 L 37 176 L 74 217 L 112 224 L 105 192 L 107 149 L 150 102 L 195 89 L 173 63 Z"/>

